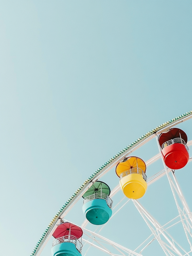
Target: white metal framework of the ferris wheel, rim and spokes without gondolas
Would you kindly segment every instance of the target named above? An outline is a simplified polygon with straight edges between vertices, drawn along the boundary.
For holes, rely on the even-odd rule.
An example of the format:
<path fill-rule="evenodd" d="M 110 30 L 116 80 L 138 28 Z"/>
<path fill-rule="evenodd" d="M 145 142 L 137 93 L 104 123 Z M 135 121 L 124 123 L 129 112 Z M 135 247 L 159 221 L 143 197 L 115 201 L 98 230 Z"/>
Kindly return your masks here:
<path fill-rule="evenodd" d="M 93 247 L 95 249 L 99 249 L 102 252 L 112 255 L 112 256 L 131 256 L 131 255 L 139 256 L 139 255 L 142 255 L 143 251 L 150 244 L 152 244 L 153 241 L 156 240 L 158 242 L 158 244 L 160 245 L 160 247 L 162 248 L 162 250 L 164 251 L 164 254 L 166 256 L 174 256 L 174 255 L 175 256 L 176 255 L 192 256 L 192 212 L 190 211 L 189 206 L 187 205 L 187 202 L 184 198 L 184 195 L 182 194 L 179 183 L 174 174 L 174 170 L 169 169 L 164 163 L 164 159 L 161 154 L 161 147 L 159 145 L 158 137 L 157 137 L 158 134 L 170 129 L 171 127 L 175 126 L 176 124 L 179 124 L 181 122 L 184 122 L 184 121 L 190 119 L 192 117 L 192 111 L 187 112 L 187 113 L 189 113 L 189 114 L 187 114 L 186 116 L 184 116 L 184 115 L 180 116 L 180 118 L 170 121 L 170 123 L 169 122 L 165 123 L 159 129 L 157 129 L 157 130 L 154 129 L 155 131 L 153 133 L 148 134 L 146 137 L 140 139 L 134 145 L 131 145 L 130 148 L 123 151 L 120 155 L 117 155 L 117 157 L 112 159 L 108 164 L 106 164 L 106 166 L 104 166 L 101 171 L 94 174 L 94 176 L 88 182 L 85 182 L 85 185 L 83 185 L 82 189 L 81 190 L 79 189 L 79 191 L 76 193 L 76 195 L 74 195 L 71 198 L 69 203 L 67 203 L 67 205 L 64 207 L 64 209 L 61 210 L 61 213 L 57 214 L 58 216 L 55 215 L 56 217 L 49 224 L 50 225 L 49 228 L 47 229 L 47 231 L 44 233 L 44 235 L 39 240 L 38 246 L 35 247 L 35 250 L 32 253 L 32 256 L 39 256 L 41 254 L 44 246 L 46 245 L 48 240 L 51 238 L 53 232 L 55 231 L 57 225 L 60 223 L 61 219 L 65 220 L 64 218 L 65 218 L 66 214 L 73 208 L 73 206 L 75 206 L 77 201 L 79 201 L 79 199 L 82 197 L 82 195 L 91 187 L 91 185 L 95 181 L 100 179 L 104 174 L 106 174 L 109 170 L 111 170 L 113 167 L 115 167 L 120 161 L 122 161 L 125 157 L 127 157 L 129 154 L 131 154 L 137 148 L 141 147 L 146 142 L 149 142 L 151 139 L 153 139 L 155 137 L 157 139 L 159 153 L 157 155 L 155 155 L 154 157 L 150 158 L 148 161 L 146 161 L 146 166 L 153 164 L 155 161 L 157 161 L 161 158 L 163 165 L 164 165 L 164 169 L 161 170 L 160 172 L 155 173 L 155 175 L 149 177 L 147 180 L 147 184 L 149 186 L 152 183 L 154 183 L 155 181 L 157 181 L 158 179 L 160 179 L 161 177 L 163 177 L 164 175 L 167 175 L 167 179 L 170 184 L 170 188 L 173 193 L 173 198 L 176 203 L 177 210 L 178 210 L 178 216 L 173 217 L 173 219 L 171 219 L 168 223 L 166 223 L 162 226 L 158 223 L 157 220 L 155 220 L 154 217 L 152 217 L 152 215 L 149 214 L 149 212 L 142 206 L 142 204 L 138 200 L 127 199 L 123 205 L 121 205 L 121 202 L 118 202 L 113 207 L 113 215 L 111 218 L 113 218 L 113 216 L 118 214 L 118 212 L 121 211 L 129 201 L 130 202 L 132 201 L 151 231 L 151 235 L 145 241 L 143 241 L 134 251 L 132 251 L 122 245 L 119 245 L 115 241 L 111 241 L 110 239 L 107 239 L 106 237 L 101 236 L 99 234 L 100 231 L 104 228 L 104 226 L 107 225 L 107 223 L 104 224 L 100 228 L 100 230 L 96 233 L 96 232 L 93 232 L 93 231 L 85 228 L 85 226 L 88 223 L 87 220 L 85 220 L 82 223 L 82 225 L 80 225 L 80 227 L 83 229 L 82 241 L 84 244 L 89 245 L 89 248 Z M 172 142 L 170 142 L 170 143 L 172 143 Z M 178 143 L 182 143 L 182 142 L 178 142 Z M 182 144 L 184 144 L 184 143 L 182 143 Z M 192 145 L 192 140 L 187 143 L 186 148 L 188 148 L 187 146 L 190 146 L 190 145 Z M 166 144 L 163 146 L 165 147 Z M 192 158 L 190 158 L 189 161 L 192 161 Z M 111 191 L 110 198 L 113 198 L 113 196 L 116 195 L 116 193 L 118 193 L 119 191 L 120 191 L 120 186 L 118 184 Z M 97 194 L 95 194 L 95 195 L 97 195 Z M 105 197 L 104 199 L 106 199 L 106 195 L 100 195 L 100 196 L 102 198 Z M 89 201 L 91 199 L 93 199 L 93 198 L 85 198 L 84 202 L 87 200 Z M 124 199 L 125 198 L 122 199 L 122 202 Z M 108 202 L 110 204 L 110 206 L 112 206 L 112 202 L 113 202 L 112 200 Z M 115 211 L 114 211 L 114 209 L 115 209 Z M 188 245 L 190 248 L 190 250 L 188 250 L 188 251 L 186 249 L 184 249 L 182 247 L 182 245 L 180 245 L 176 241 L 176 239 L 174 239 L 167 231 L 167 229 L 169 229 L 170 227 L 172 227 L 174 225 L 177 225 L 178 223 L 182 224 L 184 234 L 186 236 L 186 239 L 187 239 L 187 242 L 188 242 Z M 67 242 L 66 239 L 69 239 L 69 238 L 63 237 L 61 239 L 63 239 L 62 240 L 63 242 Z M 73 242 L 75 241 L 75 239 L 72 239 L 72 240 L 73 240 Z M 68 241 L 68 242 L 70 242 L 70 241 Z M 54 244 L 58 243 L 58 239 L 55 239 L 53 243 Z M 76 241 L 76 244 L 77 243 L 78 243 L 78 241 Z M 80 248 L 79 251 L 81 251 L 82 247 L 79 243 L 78 243 L 78 248 Z M 136 251 L 138 251 L 138 252 L 136 252 Z M 82 255 L 85 256 L 86 254 L 88 254 L 88 250 Z"/>

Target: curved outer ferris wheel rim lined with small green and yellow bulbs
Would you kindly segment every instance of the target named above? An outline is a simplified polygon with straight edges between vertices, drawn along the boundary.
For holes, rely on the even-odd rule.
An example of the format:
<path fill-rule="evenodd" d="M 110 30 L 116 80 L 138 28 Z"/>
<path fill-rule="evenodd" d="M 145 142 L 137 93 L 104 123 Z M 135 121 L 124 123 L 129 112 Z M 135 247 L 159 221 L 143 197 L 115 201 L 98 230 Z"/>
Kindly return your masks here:
<path fill-rule="evenodd" d="M 104 173 L 111 168 L 115 164 L 118 164 L 122 158 L 125 156 L 131 154 L 133 151 L 135 151 L 139 146 L 144 145 L 149 140 L 153 139 L 156 135 L 170 129 L 171 127 L 182 123 L 184 121 L 189 120 L 192 118 L 192 111 L 186 112 L 183 115 L 180 115 L 178 117 L 175 117 L 174 119 L 167 121 L 166 123 L 163 123 L 160 126 L 157 126 L 155 129 L 149 131 L 145 135 L 141 136 L 136 141 L 132 142 L 128 147 L 124 148 L 122 151 L 120 151 L 118 154 L 116 154 L 113 158 L 111 158 L 109 161 L 107 161 L 104 165 L 102 165 L 97 171 L 95 171 L 85 182 L 82 184 L 82 186 L 79 187 L 79 189 L 76 190 L 76 192 L 67 200 L 67 202 L 63 205 L 63 207 L 58 211 L 57 214 L 55 214 L 52 221 L 49 223 L 49 226 L 46 228 L 45 232 L 39 239 L 38 243 L 36 244 L 34 250 L 32 251 L 32 254 L 30 256 L 38 256 L 41 254 L 41 251 L 43 250 L 44 246 L 46 245 L 46 241 L 49 240 L 52 233 L 55 231 L 57 224 L 59 222 L 59 219 L 63 218 L 63 215 L 67 213 L 67 211 L 70 210 L 70 206 L 78 199 L 81 198 L 81 195 L 86 192 L 86 190 L 89 189 L 89 187 L 98 180 Z M 191 141 L 190 141 L 191 142 Z M 109 169 L 110 168 L 110 169 Z M 112 191 L 113 192 L 113 191 Z"/>

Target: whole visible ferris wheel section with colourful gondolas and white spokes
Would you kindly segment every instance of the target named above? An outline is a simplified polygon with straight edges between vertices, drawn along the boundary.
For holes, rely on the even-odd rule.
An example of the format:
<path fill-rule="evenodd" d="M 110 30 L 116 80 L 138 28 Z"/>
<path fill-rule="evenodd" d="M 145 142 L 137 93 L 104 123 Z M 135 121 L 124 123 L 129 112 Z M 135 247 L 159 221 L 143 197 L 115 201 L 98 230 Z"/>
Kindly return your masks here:
<path fill-rule="evenodd" d="M 163 123 L 96 170 L 31 256 L 49 241 L 52 256 L 192 256 L 191 118 L 189 111 Z"/>

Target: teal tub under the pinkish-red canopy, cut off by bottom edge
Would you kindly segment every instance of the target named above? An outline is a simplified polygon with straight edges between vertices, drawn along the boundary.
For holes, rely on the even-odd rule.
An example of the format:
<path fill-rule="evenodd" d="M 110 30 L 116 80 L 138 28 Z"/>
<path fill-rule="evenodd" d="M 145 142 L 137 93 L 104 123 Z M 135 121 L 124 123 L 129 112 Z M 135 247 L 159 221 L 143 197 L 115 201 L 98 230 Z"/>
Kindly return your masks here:
<path fill-rule="evenodd" d="M 51 248 L 52 256 L 81 256 L 75 245 L 70 242 L 64 242 L 54 245 Z"/>

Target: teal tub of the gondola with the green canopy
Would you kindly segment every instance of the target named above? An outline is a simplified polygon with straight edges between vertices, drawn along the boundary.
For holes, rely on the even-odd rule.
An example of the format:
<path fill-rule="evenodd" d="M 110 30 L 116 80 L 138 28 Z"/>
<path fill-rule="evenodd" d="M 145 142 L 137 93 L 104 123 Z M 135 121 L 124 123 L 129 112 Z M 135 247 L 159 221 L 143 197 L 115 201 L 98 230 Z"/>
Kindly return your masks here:
<path fill-rule="evenodd" d="M 105 199 L 92 199 L 83 204 L 82 210 L 86 219 L 94 225 L 105 224 L 112 215 Z"/>

